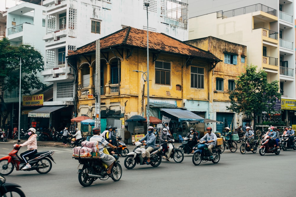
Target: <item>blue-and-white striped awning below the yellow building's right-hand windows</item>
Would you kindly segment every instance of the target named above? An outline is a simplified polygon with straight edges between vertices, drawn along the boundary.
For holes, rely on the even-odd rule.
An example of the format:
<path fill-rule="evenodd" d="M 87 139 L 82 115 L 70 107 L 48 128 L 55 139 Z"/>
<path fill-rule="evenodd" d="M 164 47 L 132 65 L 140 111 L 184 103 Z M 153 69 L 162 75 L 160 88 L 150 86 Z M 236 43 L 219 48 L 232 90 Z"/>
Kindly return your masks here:
<path fill-rule="evenodd" d="M 196 115 L 195 113 L 186 110 L 186 109 L 180 109 L 180 108 L 160 108 L 161 111 L 164 111 L 170 115 L 173 115 L 179 119 L 179 122 L 182 121 L 199 121 L 200 123 L 203 123 L 205 118 L 202 118 L 199 115 Z"/>

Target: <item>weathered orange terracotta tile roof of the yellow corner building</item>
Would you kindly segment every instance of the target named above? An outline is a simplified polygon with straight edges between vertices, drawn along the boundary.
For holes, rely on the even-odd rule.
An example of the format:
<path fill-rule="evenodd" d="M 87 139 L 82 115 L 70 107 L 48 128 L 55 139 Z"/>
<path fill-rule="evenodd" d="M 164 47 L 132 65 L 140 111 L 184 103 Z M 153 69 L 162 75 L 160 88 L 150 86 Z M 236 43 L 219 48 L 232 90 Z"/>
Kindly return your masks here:
<path fill-rule="evenodd" d="M 147 48 L 147 31 L 126 27 L 100 39 L 101 50 L 114 46 Z M 176 55 L 205 58 L 213 61 L 221 61 L 212 53 L 200 48 L 188 45 L 180 40 L 172 38 L 164 33 L 149 32 L 149 51 L 159 51 Z M 69 56 L 94 53 L 96 51 L 96 41 L 91 42 L 70 52 Z"/>

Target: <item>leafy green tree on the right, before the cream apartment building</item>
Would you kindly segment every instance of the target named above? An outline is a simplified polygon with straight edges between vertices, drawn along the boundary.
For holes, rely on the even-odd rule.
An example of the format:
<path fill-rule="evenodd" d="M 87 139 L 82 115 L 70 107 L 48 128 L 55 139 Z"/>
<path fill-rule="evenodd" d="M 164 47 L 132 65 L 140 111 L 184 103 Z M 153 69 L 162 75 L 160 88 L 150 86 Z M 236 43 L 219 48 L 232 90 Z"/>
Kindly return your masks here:
<path fill-rule="evenodd" d="M 235 113 L 250 115 L 254 120 L 254 129 L 257 116 L 263 111 L 276 113 L 274 104 L 281 98 L 279 82 L 268 83 L 267 73 L 257 66 L 247 66 L 246 72 L 238 76 L 235 89 L 229 90 L 230 106 L 226 108 Z"/>

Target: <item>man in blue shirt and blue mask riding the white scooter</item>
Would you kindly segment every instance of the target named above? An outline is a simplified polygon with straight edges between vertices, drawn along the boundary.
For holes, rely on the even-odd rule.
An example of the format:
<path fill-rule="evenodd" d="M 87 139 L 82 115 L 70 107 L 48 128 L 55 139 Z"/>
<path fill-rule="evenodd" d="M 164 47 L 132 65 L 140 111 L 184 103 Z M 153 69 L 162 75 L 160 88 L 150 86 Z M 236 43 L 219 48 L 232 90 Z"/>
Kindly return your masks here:
<path fill-rule="evenodd" d="M 147 134 L 142 139 L 139 140 L 140 142 L 146 140 L 146 143 L 143 143 L 144 146 L 141 146 L 141 148 L 146 149 L 147 161 L 145 162 L 145 164 L 147 165 L 149 165 L 150 163 L 150 152 L 153 151 L 153 149 L 155 148 L 156 137 L 153 131 L 154 131 L 154 127 L 149 126 L 147 128 Z"/>

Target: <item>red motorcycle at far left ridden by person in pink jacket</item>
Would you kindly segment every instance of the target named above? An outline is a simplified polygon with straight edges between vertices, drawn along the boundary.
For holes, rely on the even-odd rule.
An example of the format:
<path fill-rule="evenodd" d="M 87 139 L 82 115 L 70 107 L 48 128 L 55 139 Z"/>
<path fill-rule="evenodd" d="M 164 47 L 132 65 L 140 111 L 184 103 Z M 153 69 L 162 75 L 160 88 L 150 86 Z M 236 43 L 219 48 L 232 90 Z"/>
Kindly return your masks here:
<path fill-rule="evenodd" d="M 0 173 L 3 175 L 9 175 L 14 168 L 16 170 L 23 170 L 26 163 L 17 155 L 17 152 L 20 150 L 18 144 L 13 145 L 13 150 L 8 154 L 8 156 L 2 157 L 0 159 Z M 52 169 L 52 162 L 49 160 L 52 158 L 54 151 L 41 151 L 31 155 L 28 159 L 31 168 L 25 169 L 24 171 L 36 170 L 40 174 L 46 174 Z M 49 158 L 49 159 L 48 159 Z M 55 162 L 54 162 L 55 163 Z"/>

